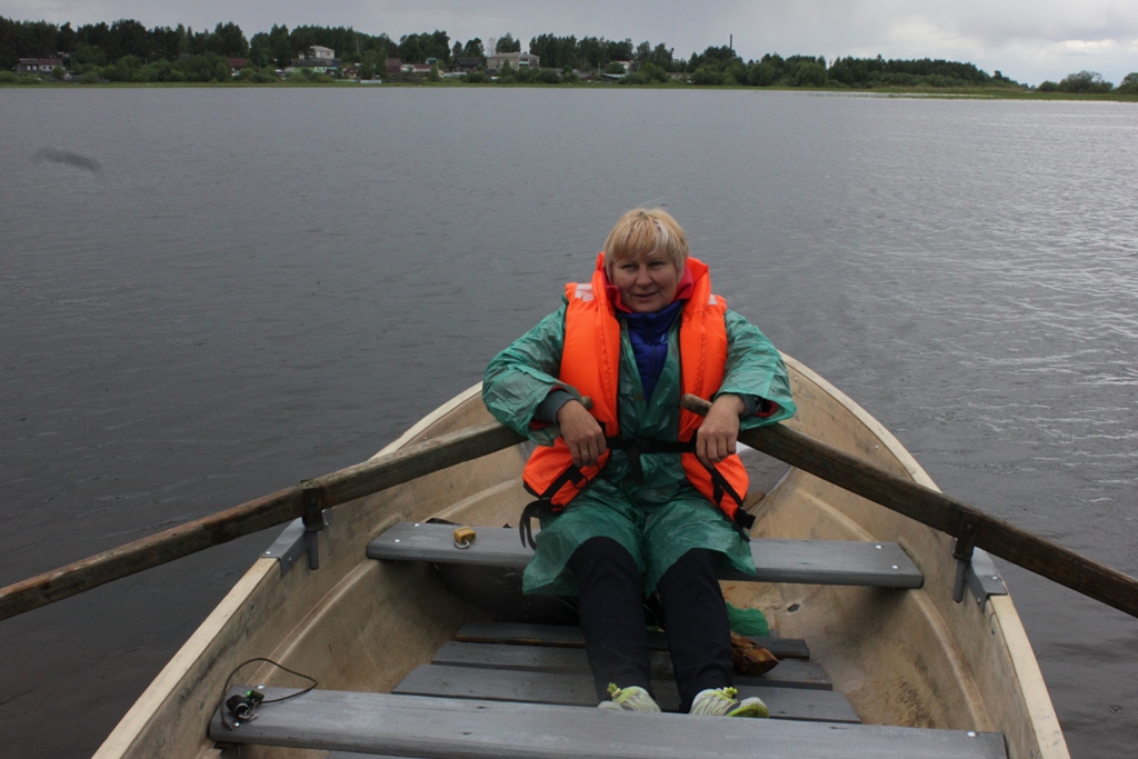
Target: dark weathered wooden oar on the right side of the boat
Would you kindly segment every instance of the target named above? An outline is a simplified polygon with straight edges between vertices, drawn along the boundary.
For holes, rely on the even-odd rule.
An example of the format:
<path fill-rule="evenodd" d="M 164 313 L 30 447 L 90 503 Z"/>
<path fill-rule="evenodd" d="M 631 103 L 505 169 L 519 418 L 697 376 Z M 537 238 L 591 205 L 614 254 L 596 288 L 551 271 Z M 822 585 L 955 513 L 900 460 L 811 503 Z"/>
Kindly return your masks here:
<path fill-rule="evenodd" d="M 711 404 L 685 395 L 701 416 Z M 783 424 L 740 432 L 739 440 L 816 477 L 892 509 L 953 537 L 1030 569 L 1096 601 L 1138 617 L 1138 579 L 1081 556 L 947 495 L 901 479 Z M 971 551 L 971 548 L 970 548 Z"/>

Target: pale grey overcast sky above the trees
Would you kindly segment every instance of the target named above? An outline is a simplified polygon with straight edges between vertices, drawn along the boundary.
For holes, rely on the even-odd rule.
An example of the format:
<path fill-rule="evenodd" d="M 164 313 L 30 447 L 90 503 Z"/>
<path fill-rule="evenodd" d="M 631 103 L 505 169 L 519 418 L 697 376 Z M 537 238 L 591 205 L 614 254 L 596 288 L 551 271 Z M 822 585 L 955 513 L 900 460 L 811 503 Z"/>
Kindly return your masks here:
<path fill-rule="evenodd" d="M 727 44 L 765 52 L 947 58 L 1038 84 L 1094 71 L 1115 84 L 1138 71 L 1138 0 L 3 0 L 0 15 L 73 26 L 133 18 L 145 26 L 353 26 L 369 34 L 443 30 L 455 40 L 543 33 L 665 42 L 677 57 Z"/>

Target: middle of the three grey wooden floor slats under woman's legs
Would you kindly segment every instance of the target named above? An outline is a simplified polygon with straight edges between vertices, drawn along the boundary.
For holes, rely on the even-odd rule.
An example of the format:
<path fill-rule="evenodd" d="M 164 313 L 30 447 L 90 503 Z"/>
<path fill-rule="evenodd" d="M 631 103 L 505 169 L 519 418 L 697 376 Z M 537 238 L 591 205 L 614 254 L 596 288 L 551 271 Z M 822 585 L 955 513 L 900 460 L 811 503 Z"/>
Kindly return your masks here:
<path fill-rule="evenodd" d="M 652 677 L 675 679 L 671 657 L 663 651 L 651 651 Z M 481 667 L 485 669 L 520 669 L 536 673 L 587 675 L 588 658 L 584 649 L 563 649 L 539 645 L 508 645 L 504 643 L 463 643 L 451 641 L 431 658 L 432 665 L 447 667 Z M 736 684 L 805 687 L 832 691 L 834 685 L 818 665 L 809 661 L 778 662 L 769 673 L 758 676 L 736 675 Z"/>

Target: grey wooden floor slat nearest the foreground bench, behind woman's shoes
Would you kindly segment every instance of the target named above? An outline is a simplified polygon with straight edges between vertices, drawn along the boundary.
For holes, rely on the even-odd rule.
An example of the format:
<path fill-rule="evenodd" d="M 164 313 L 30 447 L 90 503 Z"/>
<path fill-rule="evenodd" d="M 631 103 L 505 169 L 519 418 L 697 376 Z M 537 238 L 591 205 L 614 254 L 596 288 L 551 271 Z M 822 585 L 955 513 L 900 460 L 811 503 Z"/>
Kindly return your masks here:
<path fill-rule="evenodd" d="M 836 691 L 736 685 L 740 698 L 757 695 L 770 710 L 773 719 L 805 719 L 828 723 L 859 723 L 853 707 Z M 665 711 L 679 708 L 675 680 L 652 679 L 655 701 Z M 595 707 L 596 687 L 593 676 L 551 675 L 520 670 L 489 670 L 473 667 L 421 665 L 407 675 L 391 693 L 443 696 L 448 699 L 483 699 L 489 701 L 526 701 L 566 707 Z"/>

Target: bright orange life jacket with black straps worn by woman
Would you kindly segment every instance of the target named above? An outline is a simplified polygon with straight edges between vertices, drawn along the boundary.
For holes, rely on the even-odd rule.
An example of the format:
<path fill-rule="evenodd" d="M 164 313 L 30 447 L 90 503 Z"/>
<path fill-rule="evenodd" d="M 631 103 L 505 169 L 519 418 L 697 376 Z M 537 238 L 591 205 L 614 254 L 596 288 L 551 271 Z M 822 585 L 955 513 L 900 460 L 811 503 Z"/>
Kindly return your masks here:
<path fill-rule="evenodd" d="M 681 393 L 710 398 L 723 385 L 727 364 L 727 328 L 724 321 L 727 304 L 711 294 L 707 264 L 688 258 L 687 266 L 694 287 L 681 314 Z M 601 423 L 604 436 L 612 438 L 612 443 L 620 443 L 617 411 L 620 323 L 605 292 L 603 253 L 597 256 L 592 282 L 569 282 L 566 284 L 566 298 L 569 306 L 559 379 L 592 399 L 589 411 Z M 754 517 L 742 509 L 749 484 L 747 469 L 734 454 L 711 469 L 703 467 L 694 454 L 695 431 L 702 421 L 699 414 L 681 409 L 678 439 L 682 445 L 661 443 L 662 447 L 657 451 L 682 449 L 684 472 L 695 489 L 719 506 L 735 525 L 749 529 L 754 523 Z M 616 446 L 610 444 L 610 447 Z M 644 449 L 653 451 L 652 447 Z M 538 446 L 522 473 L 526 488 L 538 497 L 538 502 L 531 505 L 542 503 L 554 512 L 560 511 L 601 472 L 610 453 L 605 451 L 601 454 L 596 465 L 578 469 L 563 438 L 559 437 L 553 446 Z"/>

